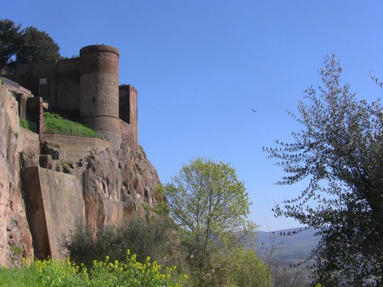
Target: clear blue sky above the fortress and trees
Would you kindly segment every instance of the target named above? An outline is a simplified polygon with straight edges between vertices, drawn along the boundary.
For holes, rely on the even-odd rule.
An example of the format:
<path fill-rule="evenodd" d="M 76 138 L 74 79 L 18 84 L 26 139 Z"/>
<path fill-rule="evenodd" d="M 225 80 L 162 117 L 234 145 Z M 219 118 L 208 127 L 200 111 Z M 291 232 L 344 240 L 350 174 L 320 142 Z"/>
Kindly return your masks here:
<path fill-rule="evenodd" d="M 336 54 L 357 98 L 383 94 L 382 1 L 3 1 L 0 18 L 45 31 L 61 55 L 86 45 L 120 50 L 120 83 L 138 89 L 139 143 L 161 181 L 197 156 L 230 163 L 253 202 L 260 230 L 296 227 L 275 202 L 300 187 L 276 186 L 282 171 L 262 146 L 299 128 L 303 90 L 320 84 Z M 257 110 L 253 113 L 251 109 Z"/>

